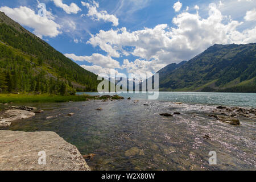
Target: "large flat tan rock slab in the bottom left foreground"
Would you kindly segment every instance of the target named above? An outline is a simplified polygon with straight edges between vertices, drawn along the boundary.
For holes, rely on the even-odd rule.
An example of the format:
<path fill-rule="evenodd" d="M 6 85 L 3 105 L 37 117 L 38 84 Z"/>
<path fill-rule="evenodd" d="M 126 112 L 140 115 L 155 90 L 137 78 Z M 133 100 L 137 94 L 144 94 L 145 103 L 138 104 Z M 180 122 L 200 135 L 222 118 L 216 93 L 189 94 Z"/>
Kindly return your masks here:
<path fill-rule="evenodd" d="M 38 163 L 38 152 L 46 164 Z M 79 150 L 54 132 L 0 130 L 0 170 L 89 171 Z"/>

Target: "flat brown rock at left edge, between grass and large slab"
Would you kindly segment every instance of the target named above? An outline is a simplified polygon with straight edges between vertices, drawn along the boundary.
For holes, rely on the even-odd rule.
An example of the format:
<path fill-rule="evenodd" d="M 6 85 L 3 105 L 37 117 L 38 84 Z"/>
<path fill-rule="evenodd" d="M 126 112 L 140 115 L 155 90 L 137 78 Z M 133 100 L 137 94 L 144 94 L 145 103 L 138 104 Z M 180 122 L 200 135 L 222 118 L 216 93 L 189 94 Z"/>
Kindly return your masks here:
<path fill-rule="evenodd" d="M 0 126 L 10 126 L 13 121 L 33 117 L 35 113 L 26 110 L 10 109 L 0 113 Z"/>

